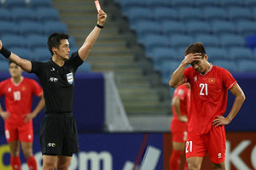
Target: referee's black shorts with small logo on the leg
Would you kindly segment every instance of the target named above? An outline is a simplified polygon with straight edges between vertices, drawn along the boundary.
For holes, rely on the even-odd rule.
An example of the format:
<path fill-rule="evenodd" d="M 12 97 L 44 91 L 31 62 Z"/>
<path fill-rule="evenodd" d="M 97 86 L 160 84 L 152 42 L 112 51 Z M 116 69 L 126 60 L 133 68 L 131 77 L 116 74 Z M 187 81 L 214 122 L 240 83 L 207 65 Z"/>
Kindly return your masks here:
<path fill-rule="evenodd" d="M 40 127 L 42 155 L 73 156 L 79 152 L 78 131 L 73 115 L 46 115 Z"/>

